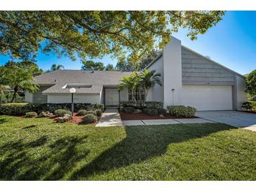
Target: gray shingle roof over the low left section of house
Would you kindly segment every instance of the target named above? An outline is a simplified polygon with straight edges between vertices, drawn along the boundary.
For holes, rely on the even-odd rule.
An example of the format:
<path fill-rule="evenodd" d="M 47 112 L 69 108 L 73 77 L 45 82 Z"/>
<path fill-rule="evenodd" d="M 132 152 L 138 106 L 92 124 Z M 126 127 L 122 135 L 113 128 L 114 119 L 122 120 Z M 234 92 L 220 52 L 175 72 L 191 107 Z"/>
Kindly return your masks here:
<path fill-rule="evenodd" d="M 69 83 L 92 85 L 90 88 L 76 88 L 76 93 L 100 93 L 103 85 L 118 85 L 122 76 L 131 72 L 123 71 L 82 71 L 82 70 L 56 70 L 35 76 L 39 85 L 53 85 L 43 91 L 43 94 L 69 93 L 63 88 Z"/>

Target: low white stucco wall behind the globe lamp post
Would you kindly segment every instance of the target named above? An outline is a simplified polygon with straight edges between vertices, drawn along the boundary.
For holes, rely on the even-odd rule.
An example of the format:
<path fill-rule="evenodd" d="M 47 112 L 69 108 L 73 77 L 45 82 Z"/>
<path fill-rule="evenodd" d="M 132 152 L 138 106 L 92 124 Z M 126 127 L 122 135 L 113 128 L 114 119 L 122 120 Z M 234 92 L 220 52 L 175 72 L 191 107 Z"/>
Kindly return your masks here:
<path fill-rule="evenodd" d="M 75 103 L 100 103 L 100 94 L 74 94 Z M 48 103 L 69 103 L 71 102 L 70 94 L 50 94 Z"/>

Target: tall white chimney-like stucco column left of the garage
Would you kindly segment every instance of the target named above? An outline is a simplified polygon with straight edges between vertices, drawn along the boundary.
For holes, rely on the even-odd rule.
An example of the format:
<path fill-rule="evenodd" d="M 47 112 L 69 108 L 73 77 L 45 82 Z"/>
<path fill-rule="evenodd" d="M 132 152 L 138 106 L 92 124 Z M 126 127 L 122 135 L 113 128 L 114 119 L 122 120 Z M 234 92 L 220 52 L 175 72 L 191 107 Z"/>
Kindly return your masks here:
<path fill-rule="evenodd" d="M 182 53 L 181 41 L 172 37 L 163 49 L 163 107 L 181 104 Z M 174 91 L 172 91 L 174 89 Z"/>

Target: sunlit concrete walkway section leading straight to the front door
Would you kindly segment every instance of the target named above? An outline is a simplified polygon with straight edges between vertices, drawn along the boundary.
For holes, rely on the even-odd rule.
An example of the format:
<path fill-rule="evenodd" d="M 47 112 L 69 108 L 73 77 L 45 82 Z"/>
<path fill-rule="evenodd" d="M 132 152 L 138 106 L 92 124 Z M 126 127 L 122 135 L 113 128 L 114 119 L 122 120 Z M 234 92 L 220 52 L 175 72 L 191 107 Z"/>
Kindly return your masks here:
<path fill-rule="evenodd" d="M 106 109 L 96 127 L 122 126 L 118 109 Z"/>

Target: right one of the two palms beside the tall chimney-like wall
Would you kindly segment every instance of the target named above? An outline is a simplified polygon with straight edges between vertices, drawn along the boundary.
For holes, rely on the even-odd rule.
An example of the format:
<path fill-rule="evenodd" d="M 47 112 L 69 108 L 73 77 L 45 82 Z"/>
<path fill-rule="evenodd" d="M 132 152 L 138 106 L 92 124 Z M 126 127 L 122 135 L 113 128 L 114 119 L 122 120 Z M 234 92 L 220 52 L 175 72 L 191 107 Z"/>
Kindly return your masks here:
<path fill-rule="evenodd" d="M 149 69 L 146 69 L 141 73 L 140 85 L 142 85 L 145 90 L 145 100 L 149 89 L 153 88 L 156 84 L 162 86 L 162 82 L 159 78 L 160 76 L 161 74 L 156 73 L 156 70 L 149 71 Z"/>

